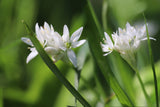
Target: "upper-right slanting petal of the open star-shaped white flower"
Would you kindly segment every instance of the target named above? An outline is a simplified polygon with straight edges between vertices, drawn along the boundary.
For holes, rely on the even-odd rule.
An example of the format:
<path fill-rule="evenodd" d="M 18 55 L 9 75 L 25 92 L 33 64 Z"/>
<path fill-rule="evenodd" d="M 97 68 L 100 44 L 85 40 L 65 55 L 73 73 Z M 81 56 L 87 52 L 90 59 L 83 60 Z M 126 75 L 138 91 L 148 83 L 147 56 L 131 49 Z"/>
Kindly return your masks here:
<path fill-rule="evenodd" d="M 81 28 L 79 28 L 78 30 L 76 30 L 76 31 L 72 34 L 71 39 L 70 39 L 70 42 L 75 42 L 75 41 L 77 41 L 77 40 L 80 38 L 82 31 L 83 31 L 83 27 L 81 27 Z"/>

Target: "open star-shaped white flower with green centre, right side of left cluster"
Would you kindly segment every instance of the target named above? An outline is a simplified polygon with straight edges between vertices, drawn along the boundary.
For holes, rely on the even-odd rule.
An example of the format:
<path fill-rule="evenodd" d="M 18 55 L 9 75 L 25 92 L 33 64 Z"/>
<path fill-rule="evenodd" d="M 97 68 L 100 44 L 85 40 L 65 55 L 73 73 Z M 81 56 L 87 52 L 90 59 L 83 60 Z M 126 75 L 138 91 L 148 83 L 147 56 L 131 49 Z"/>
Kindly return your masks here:
<path fill-rule="evenodd" d="M 78 41 L 81 36 L 82 30 L 83 27 L 79 28 L 71 35 L 71 37 L 69 37 L 69 30 L 67 25 L 64 25 L 63 27 L 62 39 L 67 49 L 67 56 L 75 67 L 77 67 L 77 58 L 72 48 L 79 47 L 86 42 L 86 40 Z"/>

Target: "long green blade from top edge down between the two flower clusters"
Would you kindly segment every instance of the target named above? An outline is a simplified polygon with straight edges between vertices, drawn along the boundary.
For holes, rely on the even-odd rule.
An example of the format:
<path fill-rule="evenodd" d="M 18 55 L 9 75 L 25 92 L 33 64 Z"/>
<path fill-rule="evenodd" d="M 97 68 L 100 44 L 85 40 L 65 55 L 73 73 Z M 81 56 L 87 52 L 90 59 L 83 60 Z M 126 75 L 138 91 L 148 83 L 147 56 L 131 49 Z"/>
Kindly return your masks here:
<path fill-rule="evenodd" d="M 96 24 L 96 27 L 99 32 L 99 36 L 94 35 L 94 38 L 93 38 L 93 36 L 88 36 L 89 46 L 90 46 L 90 50 L 93 54 L 93 57 L 94 57 L 95 61 L 97 62 L 99 68 L 101 69 L 100 72 L 102 72 L 102 74 L 104 75 L 108 84 L 115 92 L 120 103 L 122 105 L 133 106 L 132 101 L 130 100 L 128 95 L 125 93 L 125 91 L 119 85 L 119 83 L 118 83 L 117 79 L 115 78 L 113 72 L 111 71 L 110 67 L 107 66 L 109 64 L 107 62 L 106 57 L 103 57 L 102 50 L 100 47 L 100 39 L 101 39 L 101 35 L 103 36 L 103 33 L 101 31 L 100 24 L 99 24 L 97 17 L 93 11 L 93 7 L 92 7 L 90 1 L 87 0 L 87 2 L 88 2 L 88 7 L 91 12 L 92 18 L 93 18 L 94 23 Z"/>

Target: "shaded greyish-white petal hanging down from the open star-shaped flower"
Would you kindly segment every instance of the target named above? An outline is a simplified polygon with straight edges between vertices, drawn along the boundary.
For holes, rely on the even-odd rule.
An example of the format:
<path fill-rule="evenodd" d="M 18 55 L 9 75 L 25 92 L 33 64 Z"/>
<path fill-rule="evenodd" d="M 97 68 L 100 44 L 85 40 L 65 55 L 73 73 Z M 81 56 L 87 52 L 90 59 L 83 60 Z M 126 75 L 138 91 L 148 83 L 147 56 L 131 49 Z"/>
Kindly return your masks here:
<path fill-rule="evenodd" d="M 75 68 L 77 68 L 77 58 L 73 50 L 69 49 L 67 50 L 67 56 L 71 63 L 74 65 Z"/>

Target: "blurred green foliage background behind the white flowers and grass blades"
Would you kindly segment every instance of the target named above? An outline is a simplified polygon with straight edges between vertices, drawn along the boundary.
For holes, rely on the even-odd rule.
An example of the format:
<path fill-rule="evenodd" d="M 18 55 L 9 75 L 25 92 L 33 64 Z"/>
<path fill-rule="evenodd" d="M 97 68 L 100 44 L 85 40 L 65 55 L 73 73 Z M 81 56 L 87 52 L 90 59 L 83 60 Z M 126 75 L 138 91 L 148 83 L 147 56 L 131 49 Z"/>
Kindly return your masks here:
<path fill-rule="evenodd" d="M 125 27 L 127 21 L 131 25 L 143 25 L 143 13 L 145 14 L 149 24 L 149 33 L 156 38 L 156 41 L 151 43 L 157 76 L 160 80 L 160 1 L 106 1 L 106 31 L 109 34 L 115 32 L 118 27 Z M 91 2 L 101 25 L 103 25 L 101 15 L 103 0 L 91 0 Z M 86 0 L 0 0 L 0 88 L 4 107 L 73 106 L 74 97 L 57 80 L 39 56 L 26 64 L 26 57 L 30 51 L 20 39 L 28 36 L 21 20 L 25 20 L 33 31 L 36 23 L 43 26 L 46 21 L 52 24 L 60 34 L 62 34 L 64 24 L 68 25 L 71 33 L 83 26 L 81 38 L 87 39 L 87 36 L 94 38 L 94 35 L 98 35 L 98 31 Z M 106 103 L 108 107 L 121 106 L 109 87 L 107 87 L 106 93 L 104 92 L 104 86 L 100 84 L 96 74 L 99 68 L 93 60 L 88 44 L 75 51 L 79 55 L 78 58 L 83 57 L 85 60 L 80 80 L 80 93 L 93 106 L 103 107 L 101 106 L 103 103 Z M 146 42 L 142 43 L 137 58 L 147 91 L 155 102 Z M 75 72 L 71 65 L 62 61 L 58 61 L 56 65 L 74 85 Z M 137 104 L 143 104 L 144 96 L 140 96 L 141 91 L 136 84 L 134 72 L 126 67 L 126 63 L 120 57 L 114 57 L 110 66 L 124 90 L 130 93 L 129 95 L 133 99 L 139 97 L 140 100 L 137 101 Z M 81 105 L 79 104 L 79 106 Z"/>

